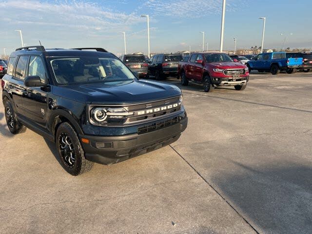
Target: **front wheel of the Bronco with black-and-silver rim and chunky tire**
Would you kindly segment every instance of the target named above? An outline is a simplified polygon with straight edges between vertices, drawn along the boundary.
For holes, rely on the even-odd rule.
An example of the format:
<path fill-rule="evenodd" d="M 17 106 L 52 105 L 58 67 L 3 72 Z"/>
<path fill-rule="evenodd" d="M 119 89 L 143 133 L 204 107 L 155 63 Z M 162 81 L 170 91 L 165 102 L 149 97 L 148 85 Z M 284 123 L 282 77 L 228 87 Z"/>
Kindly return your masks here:
<path fill-rule="evenodd" d="M 59 125 L 55 139 L 61 166 L 66 172 L 78 176 L 90 171 L 93 162 L 85 158 L 78 136 L 68 122 Z"/>

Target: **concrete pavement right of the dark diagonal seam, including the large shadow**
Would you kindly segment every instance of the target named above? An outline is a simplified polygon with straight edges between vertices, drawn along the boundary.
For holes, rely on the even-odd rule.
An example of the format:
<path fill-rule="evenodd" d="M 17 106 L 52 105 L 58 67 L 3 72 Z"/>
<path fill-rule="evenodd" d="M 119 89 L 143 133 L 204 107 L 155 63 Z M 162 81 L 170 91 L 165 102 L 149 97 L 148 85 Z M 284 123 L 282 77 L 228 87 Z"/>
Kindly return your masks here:
<path fill-rule="evenodd" d="M 312 230 L 312 73 L 252 74 L 244 91 L 180 86 L 172 146 L 259 233 Z"/>

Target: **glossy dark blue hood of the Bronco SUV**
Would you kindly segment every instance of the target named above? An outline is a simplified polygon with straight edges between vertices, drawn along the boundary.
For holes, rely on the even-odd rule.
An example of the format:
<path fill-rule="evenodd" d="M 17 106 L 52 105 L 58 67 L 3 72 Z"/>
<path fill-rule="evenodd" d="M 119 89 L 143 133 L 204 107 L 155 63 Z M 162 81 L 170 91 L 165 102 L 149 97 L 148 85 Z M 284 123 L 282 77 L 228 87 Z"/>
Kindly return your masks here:
<path fill-rule="evenodd" d="M 175 85 L 151 80 L 55 86 L 53 94 L 89 104 L 129 104 L 181 95 Z"/>

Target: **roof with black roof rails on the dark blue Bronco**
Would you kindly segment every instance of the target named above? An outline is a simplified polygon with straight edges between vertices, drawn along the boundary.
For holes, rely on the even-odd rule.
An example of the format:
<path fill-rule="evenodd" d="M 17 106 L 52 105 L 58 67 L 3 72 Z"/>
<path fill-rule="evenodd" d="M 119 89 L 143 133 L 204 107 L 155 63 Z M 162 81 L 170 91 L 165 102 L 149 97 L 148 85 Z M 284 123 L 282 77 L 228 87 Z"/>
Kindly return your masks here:
<path fill-rule="evenodd" d="M 91 51 L 89 49 L 96 49 Z M 18 55 L 44 55 L 45 57 L 72 57 L 72 56 L 88 56 L 88 57 L 116 57 L 112 53 L 101 48 L 77 48 L 77 49 L 44 49 L 43 46 L 23 47 L 14 51 L 10 57 Z"/>

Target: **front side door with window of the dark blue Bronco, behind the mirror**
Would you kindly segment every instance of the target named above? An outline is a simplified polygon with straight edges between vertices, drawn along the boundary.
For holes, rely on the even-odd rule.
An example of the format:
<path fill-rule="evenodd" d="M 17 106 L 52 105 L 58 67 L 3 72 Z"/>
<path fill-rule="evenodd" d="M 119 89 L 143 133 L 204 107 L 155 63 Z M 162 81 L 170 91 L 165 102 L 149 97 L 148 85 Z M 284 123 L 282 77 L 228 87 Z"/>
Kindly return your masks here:
<path fill-rule="evenodd" d="M 26 76 L 39 76 L 41 83 L 47 81 L 47 73 L 42 59 L 39 56 L 31 56 Z M 46 127 L 47 92 L 41 87 L 25 87 L 23 95 L 23 108 L 25 116 L 35 121 L 41 127 Z"/>

